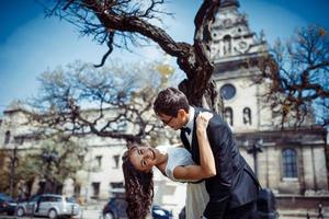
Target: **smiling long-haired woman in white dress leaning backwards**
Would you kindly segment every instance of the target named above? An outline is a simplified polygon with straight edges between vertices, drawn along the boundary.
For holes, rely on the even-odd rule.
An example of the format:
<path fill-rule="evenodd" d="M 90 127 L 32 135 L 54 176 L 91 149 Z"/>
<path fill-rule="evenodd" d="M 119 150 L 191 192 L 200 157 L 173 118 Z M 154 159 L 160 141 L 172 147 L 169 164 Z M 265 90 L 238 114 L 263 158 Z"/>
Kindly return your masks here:
<path fill-rule="evenodd" d="M 152 168 L 158 168 L 172 181 L 193 182 L 216 175 L 214 155 L 207 139 L 206 127 L 211 113 L 201 113 L 196 118 L 200 165 L 192 160 L 191 153 L 182 147 L 167 151 L 145 146 L 133 146 L 125 153 L 123 171 L 125 177 L 128 218 L 144 219 L 154 197 Z M 186 188 L 186 219 L 200 219 L 203 215 L 208 194 L 204 182 L 189 183 Z"/>

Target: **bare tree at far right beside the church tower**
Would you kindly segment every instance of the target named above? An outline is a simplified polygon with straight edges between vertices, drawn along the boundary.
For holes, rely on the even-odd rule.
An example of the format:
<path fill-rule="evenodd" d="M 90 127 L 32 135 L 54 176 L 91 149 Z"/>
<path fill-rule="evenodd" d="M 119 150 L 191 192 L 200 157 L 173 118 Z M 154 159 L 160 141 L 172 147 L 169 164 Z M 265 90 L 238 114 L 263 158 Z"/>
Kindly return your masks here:
<path fill-rule="evenodd" d="M 265 97 L 281 127 L 299 127 L 314 116 L 328 126 L 329 35 L 324 27 L 309 25 L 285 44 L 277 41 L 260 67 L 263 73 L 257 82 L 269 82 Z"/>

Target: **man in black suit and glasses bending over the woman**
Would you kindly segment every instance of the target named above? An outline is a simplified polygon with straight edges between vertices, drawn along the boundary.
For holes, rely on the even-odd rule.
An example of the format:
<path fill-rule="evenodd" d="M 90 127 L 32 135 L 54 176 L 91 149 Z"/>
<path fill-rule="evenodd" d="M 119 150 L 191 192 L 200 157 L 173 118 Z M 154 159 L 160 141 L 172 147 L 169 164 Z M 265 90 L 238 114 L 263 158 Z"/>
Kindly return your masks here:
<path fill-rule="evenodd" d="M 174 88 L 161 91 L 154 110 L 164 125 L 174 130 L 181 129 L 184 147 L 200 164 L 198 145 L 195 132 L 195 118 L 207 110 L 192 107 L 186 96 Z M 258 180 L 241 157 L 230 128 L 214 113 L 207 127 L 207 137 L 216 163 L 217 174 L 205 178 L 209 201 L 204 211 L 207 219 L 256 219 Z"/>

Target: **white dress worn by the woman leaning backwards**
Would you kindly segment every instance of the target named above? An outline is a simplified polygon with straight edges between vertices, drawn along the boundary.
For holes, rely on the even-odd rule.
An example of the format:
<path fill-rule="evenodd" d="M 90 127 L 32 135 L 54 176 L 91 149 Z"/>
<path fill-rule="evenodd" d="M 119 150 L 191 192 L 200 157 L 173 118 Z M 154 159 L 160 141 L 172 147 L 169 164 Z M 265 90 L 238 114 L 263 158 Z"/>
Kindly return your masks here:
<path fill-rule="evenodd" d="M 191 183 L 185 180 L 178 180 L 173 176 L 173 170 L 178 165 L 194 164 L 191 153 L 182 147 L 166 148 L 168 153 L 168 162 L 166 166 L 166 175 L 175 182 L 186 182 L 186 200 L 185 214 L 186 219 L 200 219 L 209 200 L 208 193 L 205 188 L 205 182 Z M 160 149 L 159 149 L 160 150 Z M 163 151 L 163 149 L 162 149 Z"/>

